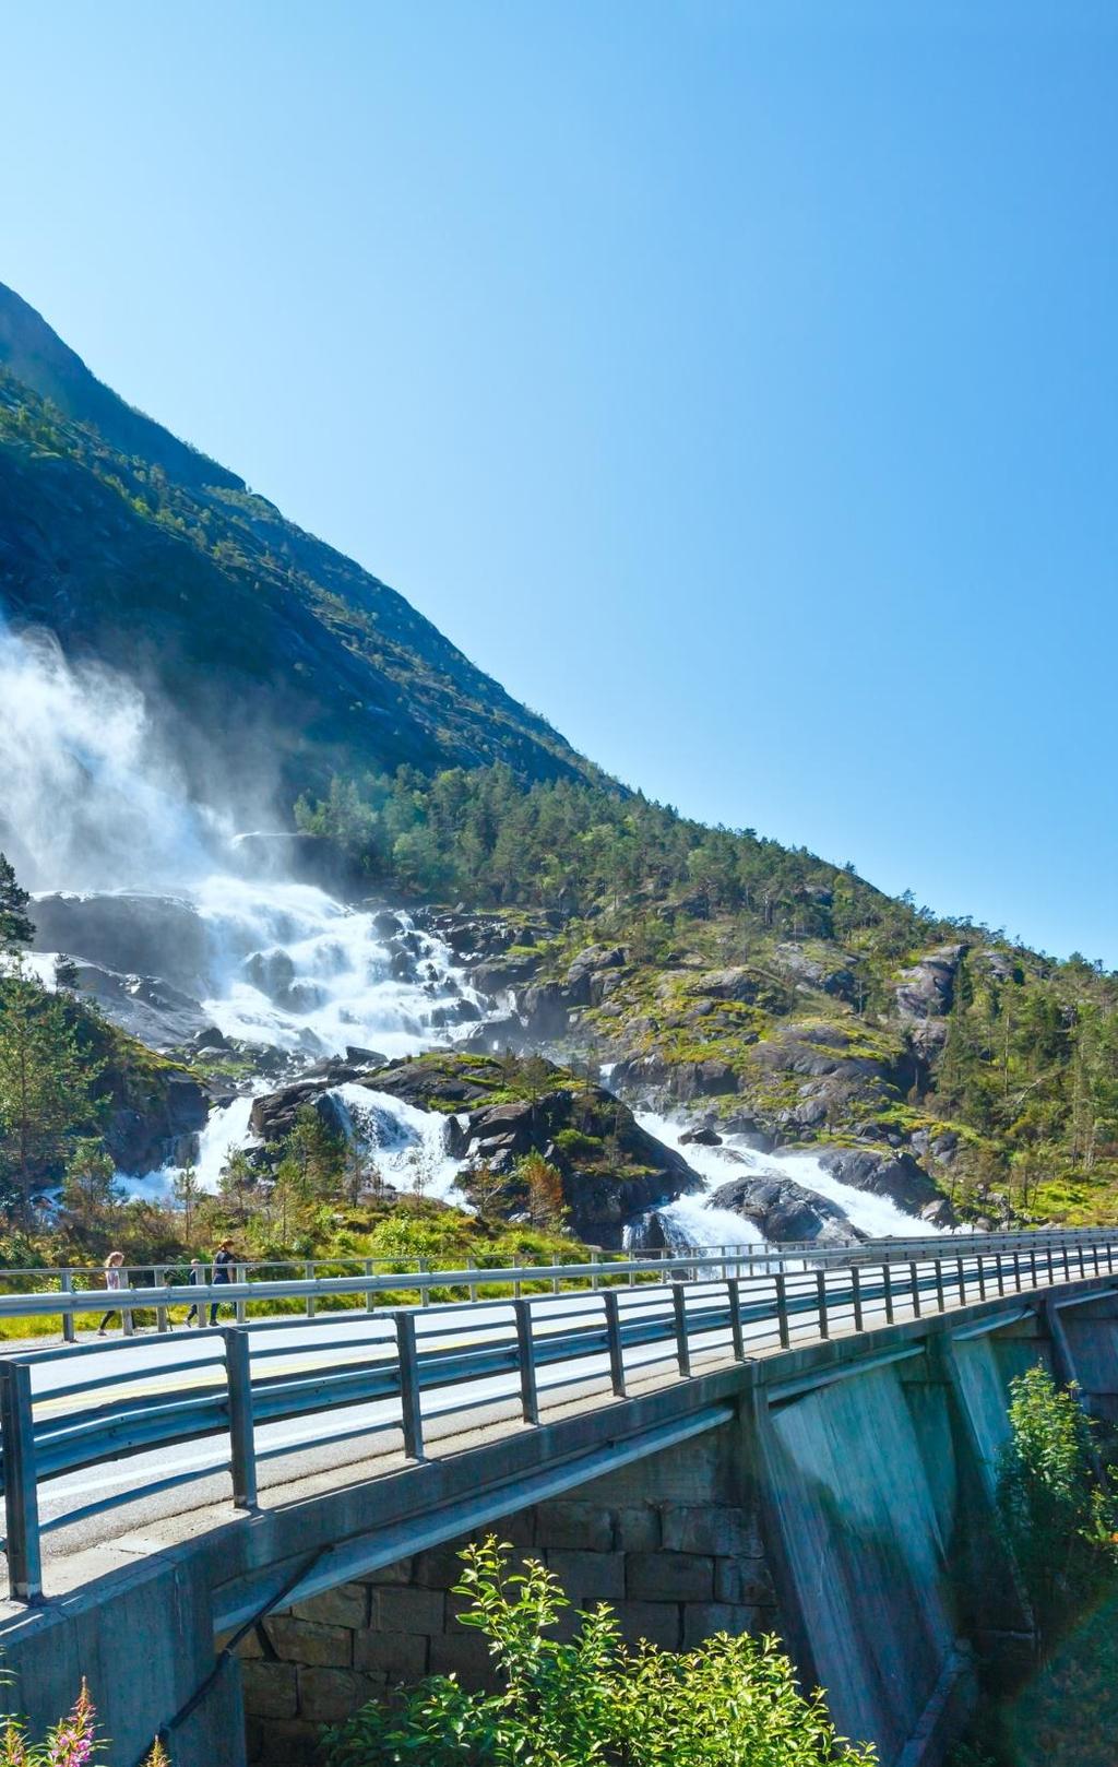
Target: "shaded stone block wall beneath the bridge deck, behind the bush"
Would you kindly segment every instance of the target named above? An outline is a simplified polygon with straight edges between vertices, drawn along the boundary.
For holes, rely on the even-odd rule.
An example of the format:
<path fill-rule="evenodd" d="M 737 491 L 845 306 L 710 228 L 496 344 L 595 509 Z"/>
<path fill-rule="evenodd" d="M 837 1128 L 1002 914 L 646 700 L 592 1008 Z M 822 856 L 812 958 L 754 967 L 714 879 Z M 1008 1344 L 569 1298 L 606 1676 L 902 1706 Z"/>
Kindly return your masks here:
<path fill-rule="evenodd" d="M 726 1435 L 721 1431 L 719 1435 Z M 482 1528 L 544 1562 L 576 1608 L 608 1601 L 629 1643 L 687 1649 L 719 1631 L 774 1631 L 754 1513 L 728 1440 L 701 1438 Z M 733 1500 L 737 1498 L 737 1502 Z M 466 1541 L 420 1551 L 268 1617 L 242 1647 L 249 1762 L 309 1767 L 323 1723 L 399 1682 L 454 1672 L 486 1686 L 482 1638 L 457 1624 Z M 576 1626 L 567 1613 L 563 1626 Z"/>

